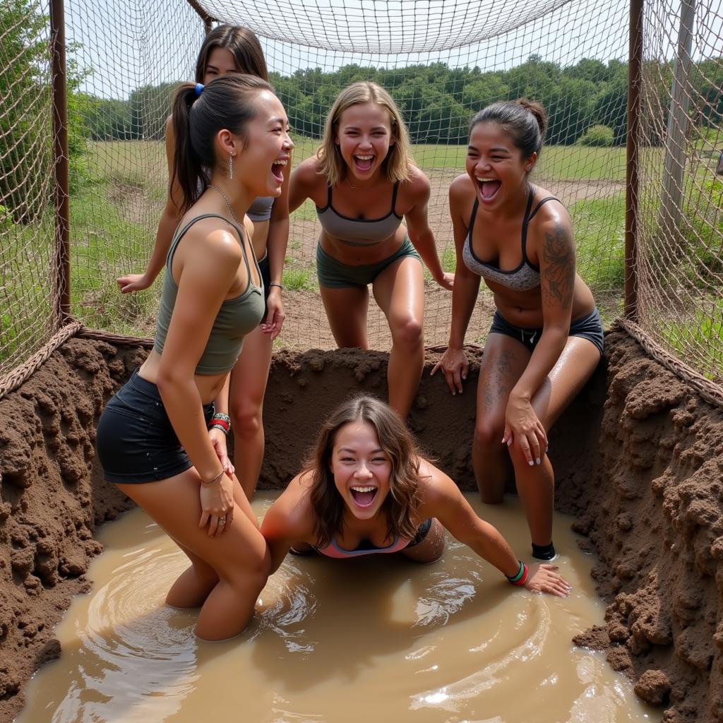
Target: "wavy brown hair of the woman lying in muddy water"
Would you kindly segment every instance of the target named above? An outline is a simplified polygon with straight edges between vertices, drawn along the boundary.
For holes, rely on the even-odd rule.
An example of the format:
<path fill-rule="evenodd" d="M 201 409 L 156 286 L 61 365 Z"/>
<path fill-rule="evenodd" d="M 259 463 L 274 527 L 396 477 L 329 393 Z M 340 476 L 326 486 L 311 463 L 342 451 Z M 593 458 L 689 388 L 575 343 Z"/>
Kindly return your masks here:
<path fill-rule="evenodd" d="M 422 455 L 414 437 L 388 404 L 360 395 L 343 402 L 330 414 L 304 466 L 304 472 L 312 480 L 309 500 L 314 511 L 317 546 L 326 547 L 343 527 L 345 503 L 334 484 L 330 463 L 336 435 L 352 422 L 366 422 L 374 427 L 380 447 L 391 462 L 389 494 L 382 503 L 388 521 L 388 536 L 414 539 L 416 525 L 411 515 L 419 505 L 416 492 Z"/>

